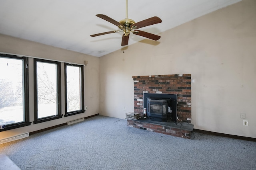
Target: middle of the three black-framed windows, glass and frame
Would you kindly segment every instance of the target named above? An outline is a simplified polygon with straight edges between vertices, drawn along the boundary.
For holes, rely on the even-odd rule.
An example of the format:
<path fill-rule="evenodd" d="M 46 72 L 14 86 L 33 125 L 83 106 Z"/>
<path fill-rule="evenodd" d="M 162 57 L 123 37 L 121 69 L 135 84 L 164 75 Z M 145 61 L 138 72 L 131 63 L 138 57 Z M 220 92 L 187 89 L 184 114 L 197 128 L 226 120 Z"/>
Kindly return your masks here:
<path fill-rule="evenodd" d="M 34 124 L 61 118 L 60 104 L 60 62 L 34 59 Z"/>

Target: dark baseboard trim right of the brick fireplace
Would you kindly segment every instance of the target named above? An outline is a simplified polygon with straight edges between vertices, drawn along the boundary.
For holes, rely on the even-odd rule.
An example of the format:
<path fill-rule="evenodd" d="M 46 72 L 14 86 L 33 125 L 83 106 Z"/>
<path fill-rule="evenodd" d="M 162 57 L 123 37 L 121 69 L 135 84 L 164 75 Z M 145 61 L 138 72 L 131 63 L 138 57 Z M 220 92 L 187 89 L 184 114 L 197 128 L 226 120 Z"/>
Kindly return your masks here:
<path fill-rule="evenodd" d="M 200 129 L 194 129 L 193 131 L 197 132 L 197 133 L 207 134 L 207 135 L 215 135 L 215 136 L 221 136 L 221 137 L 228 137 L 228 138 L 232 138 L 232 139 L 240 139 L 240 140 L 244 140 L 244 141 L 254 141 L 254 142 L 256 142 L 256 138 L 252 138 L 252 137 L 229 135 L 229 134 L 225 134 L 225 133 L 204 131 L 204 130 L 200 130 Z"/>

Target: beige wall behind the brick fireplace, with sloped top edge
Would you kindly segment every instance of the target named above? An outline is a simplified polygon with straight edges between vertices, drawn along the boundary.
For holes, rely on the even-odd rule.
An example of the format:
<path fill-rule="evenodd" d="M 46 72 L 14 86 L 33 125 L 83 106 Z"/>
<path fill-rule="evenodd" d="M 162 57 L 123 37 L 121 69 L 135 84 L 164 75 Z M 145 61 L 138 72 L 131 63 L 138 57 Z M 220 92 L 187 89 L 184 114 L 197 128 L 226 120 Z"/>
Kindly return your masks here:
<path fill-rule="evenodd" d="M 161 33 L 158 42 L 100 57 L 100 114 L 124 119 L 134 111 L 132 76 L 187 73 L 195 79 L 195 129 L 256 138 L 255 9 L 255 0 L 244 0 Z"/>

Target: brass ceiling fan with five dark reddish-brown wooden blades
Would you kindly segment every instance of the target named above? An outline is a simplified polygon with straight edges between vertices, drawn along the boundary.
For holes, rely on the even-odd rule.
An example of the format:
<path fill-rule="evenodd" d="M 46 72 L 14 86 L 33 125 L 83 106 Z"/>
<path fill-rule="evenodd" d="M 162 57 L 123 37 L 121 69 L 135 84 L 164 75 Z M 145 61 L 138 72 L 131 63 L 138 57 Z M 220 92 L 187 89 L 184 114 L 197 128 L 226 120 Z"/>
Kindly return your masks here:
<path fill-rule="evenodd" d="M 129 35 L 130 33 L 134 33 L 135 35 L 140 35 L 142 37 L 146 37 L 149 39 L 153 39 L 155 41 L 157 41 L 158 39 L 160 39 L 160 36 L 152 34 L 152 33 L 148 33 L 145 31 L 140 31 L 138 30 L 138 28 L 142 28 L 142 27 L 146 27 L 148 25 L 153 25 L 156 23 L 161 23 L 162 20 L 160 18 L 158 18 L 157 16 L 154 16 L 152 18 L 148 18 L 146 20 L 143 21 L 139 21 L 139 22 L 135 22 L 134 20 L 131 20 L 128 18 L 128 0 L 126 0 L 126 18 L 124 20 L 121 21 L 116 21 L 113 20 L 112 18 L 104 15 L 104 14 L 97 14 L 96 16 L 99 18 L 102 18 L 103 20 L 106 20 L 110 23 L 113 23 L 114 25 L 118 26 L 118 28 L 120 28 L 121 30 L 116 30 L 116 31 L 108 31 L 108 32 L 104 32 L 104 33 L 98 33 L 98 34 L 93 34 L 90 35 L 91 37 L 96 37 L 99 35 L 105 35 L 105 34 L 109 34 L 109 33 L 116 33 L 116 32 L 124 32 L 123 37 L 122 37 L 122 43 L 121 46 L 124 45 L 128 45 L 128 40 L 129 40 Z"/>

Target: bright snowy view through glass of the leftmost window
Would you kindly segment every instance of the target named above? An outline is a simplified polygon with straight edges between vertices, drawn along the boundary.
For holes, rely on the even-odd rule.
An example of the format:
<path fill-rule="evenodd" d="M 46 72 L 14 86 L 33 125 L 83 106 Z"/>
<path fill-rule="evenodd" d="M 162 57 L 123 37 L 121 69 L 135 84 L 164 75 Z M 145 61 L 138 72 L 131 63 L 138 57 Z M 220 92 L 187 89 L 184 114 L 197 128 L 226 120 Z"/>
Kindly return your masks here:
<path fill-rule="evenodd" d="M 23 60 L 0 57 L 0 123 L 24 121 Z"/>

